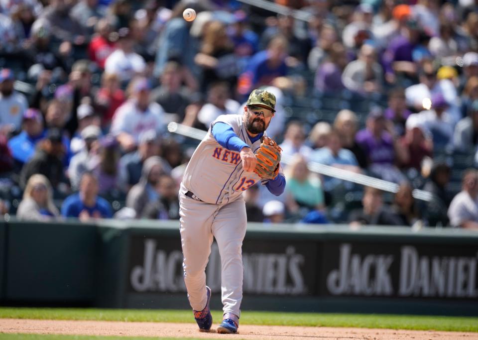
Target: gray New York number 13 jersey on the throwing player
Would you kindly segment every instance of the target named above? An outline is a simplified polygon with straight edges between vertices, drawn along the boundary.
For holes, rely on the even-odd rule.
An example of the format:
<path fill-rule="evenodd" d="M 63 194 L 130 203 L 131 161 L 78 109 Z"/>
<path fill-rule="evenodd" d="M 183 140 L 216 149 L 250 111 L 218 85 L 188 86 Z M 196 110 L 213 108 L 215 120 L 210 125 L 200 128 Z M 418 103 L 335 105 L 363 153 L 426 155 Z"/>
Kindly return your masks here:
<path fill-rule="evenodd" d="M 251 143 L 241 114 L 220 115 L 212 125 L 216 122 L 231 125 L 252 152 L 259 148 L 260 139 Z M 222 205 L 236 201 L 242 191 L 258 181 L 257 174 L 242 170 L 239 152 L 221 146 L 210 128 L 186 167 L 181 192 L 191 191 L 206 203 Z"/>

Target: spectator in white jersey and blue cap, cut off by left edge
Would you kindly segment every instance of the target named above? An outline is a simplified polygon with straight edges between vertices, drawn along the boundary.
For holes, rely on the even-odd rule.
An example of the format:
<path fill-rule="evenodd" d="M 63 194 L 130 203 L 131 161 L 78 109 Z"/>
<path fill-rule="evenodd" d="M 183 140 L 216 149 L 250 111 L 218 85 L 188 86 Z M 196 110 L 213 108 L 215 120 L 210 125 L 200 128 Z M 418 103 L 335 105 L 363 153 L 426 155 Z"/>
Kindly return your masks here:
<path fill-rule="evenodd" d="M 28 109 L 25 96 L 13 90 L 13 72 L 0 71 L 0 134 L 8 134 L 21 128 L 23 113 Z"/>

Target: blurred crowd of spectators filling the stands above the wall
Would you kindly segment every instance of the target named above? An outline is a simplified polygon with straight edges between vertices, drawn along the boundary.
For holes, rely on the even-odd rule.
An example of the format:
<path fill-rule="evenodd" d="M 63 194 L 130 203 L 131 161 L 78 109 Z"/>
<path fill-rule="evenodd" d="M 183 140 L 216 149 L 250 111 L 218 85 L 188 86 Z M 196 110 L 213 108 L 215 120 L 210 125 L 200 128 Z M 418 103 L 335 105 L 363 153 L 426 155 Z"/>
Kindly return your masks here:
<path fill-rule="evenodd" d="M 292 161 L 249 221 L 478 229 L 478 1 L 275 3 L 0 0 L 0 214 L 179 219 L 198 141 L 168 123 L 206 131 L 267 87 Z"/>

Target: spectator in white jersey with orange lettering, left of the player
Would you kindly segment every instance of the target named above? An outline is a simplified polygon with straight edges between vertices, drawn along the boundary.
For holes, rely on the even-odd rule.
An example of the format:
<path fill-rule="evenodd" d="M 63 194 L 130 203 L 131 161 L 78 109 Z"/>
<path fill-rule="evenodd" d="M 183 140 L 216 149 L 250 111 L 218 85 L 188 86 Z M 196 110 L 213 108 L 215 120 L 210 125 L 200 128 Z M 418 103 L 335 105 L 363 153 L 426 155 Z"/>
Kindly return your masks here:
<path fill-rule="evenodd" d="M 130 97 L 113 117 L 111 133 L 117 136 L 124 150 L 130 151 L 138 143 L 141 132 L 165 129 L 164 110 L 149 102 L 151 85 L 146 78 L 134 79 L 129 86 Z"/>

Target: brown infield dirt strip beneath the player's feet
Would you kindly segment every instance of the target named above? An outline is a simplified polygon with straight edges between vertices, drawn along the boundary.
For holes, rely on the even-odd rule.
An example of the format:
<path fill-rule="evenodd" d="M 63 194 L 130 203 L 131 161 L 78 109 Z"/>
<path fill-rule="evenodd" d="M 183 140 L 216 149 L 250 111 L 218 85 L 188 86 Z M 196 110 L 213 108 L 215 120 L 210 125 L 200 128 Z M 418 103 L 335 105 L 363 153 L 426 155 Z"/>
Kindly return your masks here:
<path fill-rule="evenodd" d="M 214 326 L 213 326 L 214 328 Z M 0 319 L 1 333 L 253 340 L 478 340 L 477 333 L 240 325 L 239 335 L 200 333 L 195 324 Z"/>

